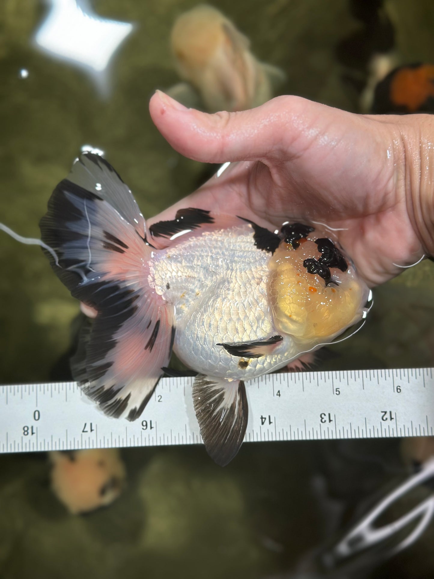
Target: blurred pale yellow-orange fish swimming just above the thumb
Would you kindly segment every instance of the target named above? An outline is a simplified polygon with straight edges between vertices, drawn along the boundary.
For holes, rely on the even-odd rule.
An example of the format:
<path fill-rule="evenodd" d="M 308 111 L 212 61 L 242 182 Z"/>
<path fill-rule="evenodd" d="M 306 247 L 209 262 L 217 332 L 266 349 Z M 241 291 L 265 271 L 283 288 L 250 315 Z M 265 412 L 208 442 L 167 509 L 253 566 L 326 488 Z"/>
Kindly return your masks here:
<path fill-rule="evenodd" d="M 273 97 L 274 85 L 285 74 L 260 63 L 250 42 L 219 10 L 201 4 L 181 14 L 171 31 L 176 70 L 200 94 L 209 112 L 244 111 Z M 185 83 L 171 96 L 189 100 Z M 191 98 L 191 97 L 190 97 Z"/>

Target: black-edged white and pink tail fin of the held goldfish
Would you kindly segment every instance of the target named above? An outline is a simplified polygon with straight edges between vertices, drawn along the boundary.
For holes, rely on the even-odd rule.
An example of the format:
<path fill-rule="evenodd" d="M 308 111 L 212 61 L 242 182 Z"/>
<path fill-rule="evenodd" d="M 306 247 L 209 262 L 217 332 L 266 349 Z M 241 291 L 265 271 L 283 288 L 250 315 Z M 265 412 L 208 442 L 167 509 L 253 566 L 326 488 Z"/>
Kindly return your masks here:
<path fill-rule="evenodd" d="M 116 171 L 83 153 L 41 219 L 44 250 L 71 294 L 98 314 L 84 328 L 73 376 L 109 416 L 141 415 L 170 360 L 174 312 L 149 287 L 145 219 Z M 57 265 L 58 264 L 58 265 Z"/>

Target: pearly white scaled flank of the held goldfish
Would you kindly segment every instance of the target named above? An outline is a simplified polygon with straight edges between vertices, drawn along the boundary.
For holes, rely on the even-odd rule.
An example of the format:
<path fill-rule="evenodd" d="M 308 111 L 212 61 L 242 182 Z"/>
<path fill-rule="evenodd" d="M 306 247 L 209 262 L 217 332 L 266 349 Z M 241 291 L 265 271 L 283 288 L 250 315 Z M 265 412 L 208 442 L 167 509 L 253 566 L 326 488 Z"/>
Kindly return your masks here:
<path fill-rule="evenodd" d="M 261 373 L 267 371 L 269 364 L 258 358 L 241 371 L 239 358 L 216 344 L 261 340 L 273 333 L 268 260 L 269 255 L 255 247 L 248 225 L 229 234 L 218 230 L 190 237 L 156 259 L 152 266 L 156 291 L 174 303 L 175 349 L 187 366 L 229 378 L 248 378 L 259 368 Z M 178 301 L 177 295 L 183 297 Z"/>

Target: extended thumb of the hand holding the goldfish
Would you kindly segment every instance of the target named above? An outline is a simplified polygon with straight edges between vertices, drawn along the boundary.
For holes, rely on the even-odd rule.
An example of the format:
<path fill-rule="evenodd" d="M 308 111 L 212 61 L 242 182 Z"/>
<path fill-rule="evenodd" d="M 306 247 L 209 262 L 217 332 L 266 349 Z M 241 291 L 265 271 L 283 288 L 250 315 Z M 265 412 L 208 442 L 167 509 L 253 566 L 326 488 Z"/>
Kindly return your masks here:
<path fill-rule="evenodd" d="M 273 98 L 262 106 L 241 112 L 209 115 L 187 109 L 157 90 L 149 111 L 163 137 L 182 155 L 204 163 L 263 160 L 292 153 L 312 109 L 328 108 L 295 96 Z"/>

